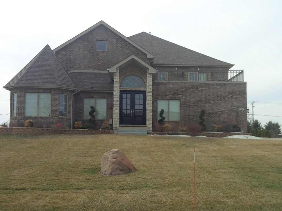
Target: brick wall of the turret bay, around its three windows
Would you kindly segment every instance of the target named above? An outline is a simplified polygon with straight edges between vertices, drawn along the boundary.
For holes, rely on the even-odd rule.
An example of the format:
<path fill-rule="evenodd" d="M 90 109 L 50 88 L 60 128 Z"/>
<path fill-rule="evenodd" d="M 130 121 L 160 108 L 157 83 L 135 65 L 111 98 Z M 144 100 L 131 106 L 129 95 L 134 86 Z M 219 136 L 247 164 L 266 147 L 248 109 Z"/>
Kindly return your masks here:
<path fill-rule="evenodd" d="M 50 117 L 25 116 L 25 93 L 51 93 L 51 115 Z M 23 127 L 27 119 L 32 119 L 34 127 L 56 128 L 57 123 L 62 124 L 62 129 L 70 128 L 70 112 L 71 112 L 71 91 L 62 89 L 49 88 L 15 88 L 11 90 L 12 94 L 17 93 L 17 115 L 12 116 L 12 100 L 10 103 L 10 127 Z M 59 117 L 60 94 L 68 95 L 68 113 L 67 117 Z"/>

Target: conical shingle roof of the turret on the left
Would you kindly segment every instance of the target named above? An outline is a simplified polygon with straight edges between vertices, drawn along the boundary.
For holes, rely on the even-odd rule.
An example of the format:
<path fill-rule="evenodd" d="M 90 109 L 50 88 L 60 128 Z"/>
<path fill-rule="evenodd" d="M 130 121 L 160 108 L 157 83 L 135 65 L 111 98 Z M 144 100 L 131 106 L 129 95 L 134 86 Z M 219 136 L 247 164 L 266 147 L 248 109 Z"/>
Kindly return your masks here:
<path fill-rule="evenodd" d="M 49 45 L 46 45 L 4 88 L 48 86 L 76 89 Z"/>

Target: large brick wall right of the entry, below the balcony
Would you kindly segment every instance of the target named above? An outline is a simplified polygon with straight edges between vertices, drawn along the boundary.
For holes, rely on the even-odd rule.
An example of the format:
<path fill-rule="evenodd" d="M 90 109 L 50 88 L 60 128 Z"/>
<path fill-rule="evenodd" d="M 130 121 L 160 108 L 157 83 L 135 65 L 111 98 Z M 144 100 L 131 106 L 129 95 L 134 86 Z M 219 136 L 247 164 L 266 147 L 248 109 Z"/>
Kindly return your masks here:
<path fill-rule="evenodd" d="M 205 109 L 207 131 L 215 131 L 216 125 L 223 126 L 232 119 L 238 107 L 246 109 L 246 92 L 246 82 L 153 81 L 153 126 L 158 99 L 175 99 L 180 100 L 180 121 L 184 125 L 198 123 L 200 111 Z M 247 116 L 244 121 L 246 130 Z"/>

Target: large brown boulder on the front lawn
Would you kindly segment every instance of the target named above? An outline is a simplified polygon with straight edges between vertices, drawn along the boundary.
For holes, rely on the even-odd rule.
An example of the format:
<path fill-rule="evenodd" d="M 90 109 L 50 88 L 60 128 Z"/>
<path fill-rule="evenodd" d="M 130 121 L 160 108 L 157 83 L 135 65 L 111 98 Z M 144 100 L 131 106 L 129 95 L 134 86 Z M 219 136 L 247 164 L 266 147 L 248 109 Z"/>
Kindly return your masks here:
<path fill-rule="evenodd" d="M 119 149 L 106 152 L 101 160 L 101 174 L 122 175 L 136 171 L 136 168 Z"/>

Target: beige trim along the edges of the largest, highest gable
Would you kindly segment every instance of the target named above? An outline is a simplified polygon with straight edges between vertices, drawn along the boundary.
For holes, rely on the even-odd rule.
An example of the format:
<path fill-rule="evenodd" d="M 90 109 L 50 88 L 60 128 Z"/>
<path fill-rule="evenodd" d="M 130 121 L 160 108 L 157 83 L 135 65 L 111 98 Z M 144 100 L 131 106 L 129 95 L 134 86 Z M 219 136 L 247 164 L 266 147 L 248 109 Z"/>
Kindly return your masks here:
<path fill-rule="evenodd" d="M 113 31 L 115 34 L 117 34 L 118 36 L 120 36 L 121 38 L 123 38 L 124 40 L 126 40 L 127 42 L 129 42 L 130 44 L 134 45 L 135 47 L 137 47 L 138 49 L 140 49 L 141 51 L 143 51 L 144 53 L 147 54 L 147 58 L 154 58 L 154 55 L 150 52 L 148 52 L 147 50 L 145 50 L 143 47 L 137 45 L 136 43 L 132 42 L 132 40 L 128 39 L 126 36 L 124 36 L 123 34 L 121 34 L 120 32 L 118 32 L 117 30 L 115 30 L 113 27 L 109 26 L 108 24 L 106 24 L 103 20 L 99 21 L 98 23 L 96 23 L 95 25 L 91 26 L 90 28 L 86 29 L 85 31 L 81 32 L 80 34 L 78 34 L 77 36 L 71 38 L 70 40 L 68 40 L 67 42 L 65 42 L 64 44 L 56 47 L 53 51 L 56 52 L 58 50 L 60 50 L 61 48 L 65 47 L 66 45 L 70 44 L 71 42 L 73 42 L 74 40 L 80 38 L 81 36 L 83 36 L 84 34 L 86 34 L 87 32 L 90 32 L 91 30 L 95 29 L 97 26 L 103 24 L 105 27 L 107 27 L 109 30 Z"/>

